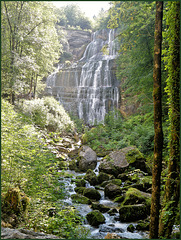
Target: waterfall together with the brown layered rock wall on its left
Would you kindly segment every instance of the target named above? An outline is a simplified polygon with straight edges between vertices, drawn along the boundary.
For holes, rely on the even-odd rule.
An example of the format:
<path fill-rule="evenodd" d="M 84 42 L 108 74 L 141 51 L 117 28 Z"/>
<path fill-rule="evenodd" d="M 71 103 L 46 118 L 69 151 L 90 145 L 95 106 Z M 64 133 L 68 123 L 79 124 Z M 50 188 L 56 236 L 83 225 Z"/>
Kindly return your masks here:
<path fill-rule="evenodd" d="M 53 95 L 67 111 L 86 123 L 104 122 L 106 113 L 118 108 L 114 39 L 113 29 L 93 33 L 92 41 L 78 62 L 59 66 L 47 78 L 47 94 Z"/>

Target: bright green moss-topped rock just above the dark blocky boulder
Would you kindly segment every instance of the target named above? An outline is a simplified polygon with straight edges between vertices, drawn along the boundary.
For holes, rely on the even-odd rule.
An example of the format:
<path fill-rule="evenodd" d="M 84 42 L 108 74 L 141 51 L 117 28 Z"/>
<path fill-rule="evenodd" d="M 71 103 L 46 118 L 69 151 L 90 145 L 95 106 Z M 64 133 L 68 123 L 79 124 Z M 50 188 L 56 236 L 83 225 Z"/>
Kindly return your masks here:
<path fill-rule="evenodd" d="M 151 195 L 149 193 L 142 192 L 136 188 L 129 188 L 125 193 L 124 201 L 122 205 L 134 205 L 144 203 L 148 208 L 151 206 Z"/>

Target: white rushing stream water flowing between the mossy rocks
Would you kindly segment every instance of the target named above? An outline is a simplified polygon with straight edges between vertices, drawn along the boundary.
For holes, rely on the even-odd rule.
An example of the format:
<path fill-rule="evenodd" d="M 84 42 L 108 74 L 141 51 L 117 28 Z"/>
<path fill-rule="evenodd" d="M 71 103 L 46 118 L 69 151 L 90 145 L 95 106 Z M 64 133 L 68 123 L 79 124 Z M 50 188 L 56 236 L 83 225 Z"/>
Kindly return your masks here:
<path fill-rule="evenodd" d="M 96 175 L 98 175 L 99 170 L 99 164 L 100 160 L 102 158 L 98 158 L 97 166 L 94 169 L 94 172 Z M 67 194 L 65 199 L 61 201 L 61 203 L 64 206 L 73 206 L 75 207 L 79 214 L 83 216 L 84 218 L 86 215 L 92 211 L 91 207 L 87 204 L 78 204 L 78 203 L 73 203 L 71 199 L 71 195 L 75 194 L 76 192 L 74 191 L 74 188 L 76 187 L 76 184 L 74 182 L 74 179 L 76 179 L 77 176 L 84 176 L 85 173 L 78 173 L 75 171 L 71 170 L 65 170 L 66 174 L 70 174 L 73 177 L 62 177 L 59 181 L 60 183 L 64 184 L 64 190 Z M 123 183 L 124 184 L 124 183 Z M 94 186 L 91 186 L 88 182 L 86 184 L 86 187 L 92 187 L 95 188 Z M 96 188 L 97 189 L 97 188 Z M 101 194 L 101 199 L 99 200 L 99 203 L 104 204 L 105 206 L 109 206 L 111 208 L 116 208 L 118 207 L 118 203 L 115 203 L 111 201 L 109 198 L 104 196 L 104 191 L 102 189 L 97 189 L 99 193 Z M 132 224 L 133 226 L 136 225 L 136 223 L 121 223 L 119 221 L 119 213 L 114 214 L 113 216 L 110 216 L 108 213 L 102 213 L 106 219 L 104 224 L 100 224 L 99 227 L 93 227 L 88 224 L 86 218 L 84 219 L 83 225 L 84 227 L 88 228 L 90 230 L 90 235 L 89 239 L 104 239 L 104 237 L 107 235 L 107 233 L 116 233 L 118 236 L 126 239 L 145 239 L 148 238 L 147 233 L 143 231 L 134 231 L 129 232 L 127 231 L 127 227 Z"/>

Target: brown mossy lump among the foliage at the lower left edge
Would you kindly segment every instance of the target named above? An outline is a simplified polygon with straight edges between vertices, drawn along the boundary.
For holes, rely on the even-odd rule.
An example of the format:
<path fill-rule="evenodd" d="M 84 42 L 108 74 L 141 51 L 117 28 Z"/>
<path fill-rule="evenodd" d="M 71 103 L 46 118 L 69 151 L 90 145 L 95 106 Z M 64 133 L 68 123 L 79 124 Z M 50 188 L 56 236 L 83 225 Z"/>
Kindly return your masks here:
<path fill-rule="evenodd" d="M 8 215 L 26 216 L 29 202 L 29 198 L 23 192 L 20 192 L 19 188 L 10 188 L 4 196 L 2 212 Z"/>

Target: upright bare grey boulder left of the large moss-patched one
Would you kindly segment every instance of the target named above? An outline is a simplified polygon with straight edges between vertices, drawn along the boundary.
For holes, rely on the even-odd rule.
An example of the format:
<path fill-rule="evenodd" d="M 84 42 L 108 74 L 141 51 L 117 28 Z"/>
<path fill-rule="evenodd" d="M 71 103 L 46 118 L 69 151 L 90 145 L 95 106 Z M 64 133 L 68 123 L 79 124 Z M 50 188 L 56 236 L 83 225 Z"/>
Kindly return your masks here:
<path fill-rule="evenodd" d="M 94 169 L 97 165 L 97 155 L 88 146 L 82 146 L 79 150 L 79 169 L 86 172 L 88 169 Z"/>

